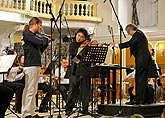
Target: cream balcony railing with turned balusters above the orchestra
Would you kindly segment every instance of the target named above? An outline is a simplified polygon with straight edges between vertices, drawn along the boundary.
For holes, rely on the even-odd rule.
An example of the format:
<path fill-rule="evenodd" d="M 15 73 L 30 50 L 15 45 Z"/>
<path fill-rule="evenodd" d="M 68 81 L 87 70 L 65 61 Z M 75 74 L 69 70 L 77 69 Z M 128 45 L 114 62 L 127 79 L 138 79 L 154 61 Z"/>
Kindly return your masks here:
<path fill-rule="evenodd" d="M 52 13 L 57 16 L 62 2 L 51 3 Z M 46 0 L 1 0 L 0 10 L 14 12 L 29 16 L 50 18 L 50 9 Z M 66 1 L 62 15 L 68 20 L 102 22 L 102 18 L 97 17 L 97 3 L 87 1 Z"/>

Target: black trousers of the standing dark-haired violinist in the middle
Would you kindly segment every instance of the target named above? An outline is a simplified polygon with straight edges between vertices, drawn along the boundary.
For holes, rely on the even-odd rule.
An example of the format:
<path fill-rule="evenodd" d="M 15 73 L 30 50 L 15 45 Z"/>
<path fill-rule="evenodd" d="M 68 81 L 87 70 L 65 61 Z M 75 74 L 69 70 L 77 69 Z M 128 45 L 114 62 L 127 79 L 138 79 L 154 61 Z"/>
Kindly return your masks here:
<path fill-rule="evenodd" d="M 69 92 L 66 104 L 66 111 L 71 111 L 80 95 L 83 110 L 88 110 L 90 97 L 90 77 L 85 76 L 70 76 Z M 79 91 L 80 90 L 80 91 Z"/>

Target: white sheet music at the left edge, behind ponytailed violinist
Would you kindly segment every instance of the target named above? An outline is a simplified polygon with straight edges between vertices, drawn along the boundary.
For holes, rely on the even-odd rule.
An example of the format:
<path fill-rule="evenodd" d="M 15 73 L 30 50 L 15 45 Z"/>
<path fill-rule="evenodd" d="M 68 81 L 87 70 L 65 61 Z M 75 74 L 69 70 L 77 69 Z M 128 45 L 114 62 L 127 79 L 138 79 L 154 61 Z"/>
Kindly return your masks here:
<path fill-rule="evenodd" d="M 8 72 L 12 67 L 17 55 L 2 55 L 0 56 L 0 73 Z"/>

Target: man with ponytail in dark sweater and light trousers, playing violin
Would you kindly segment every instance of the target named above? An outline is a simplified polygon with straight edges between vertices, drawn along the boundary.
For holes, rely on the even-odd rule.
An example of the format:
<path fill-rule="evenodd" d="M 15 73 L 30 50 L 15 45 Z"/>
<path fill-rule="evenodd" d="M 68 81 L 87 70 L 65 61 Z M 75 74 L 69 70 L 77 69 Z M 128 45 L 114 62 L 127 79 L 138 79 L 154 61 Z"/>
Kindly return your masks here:
<path fill-rule="evenodd" d="M 24 49 L 24 69 L 25 88 L 23 91 L 22 117 L 42 118 L 35 114 L 36 103 L 35 95 L 37 93 L 38 80 L 41 67 L 41 54 L 48 47 L 50 37 L 38 37 L 42 29 L 42 21 L 38 17 L 33 17 L 29 25 L 23 31 L 23 49 Z"/>

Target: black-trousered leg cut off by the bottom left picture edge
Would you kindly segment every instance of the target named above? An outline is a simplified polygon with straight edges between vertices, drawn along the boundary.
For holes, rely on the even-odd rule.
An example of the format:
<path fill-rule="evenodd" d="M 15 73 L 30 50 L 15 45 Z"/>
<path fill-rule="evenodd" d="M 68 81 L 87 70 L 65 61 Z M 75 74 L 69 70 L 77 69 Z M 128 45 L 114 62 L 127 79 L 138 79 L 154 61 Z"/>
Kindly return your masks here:
<path fill-rule="evenodd" d="M 0 118 L 4 118 L 13 95 L 14 91 L 11 88 L 0 84 Z"/>

